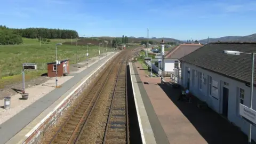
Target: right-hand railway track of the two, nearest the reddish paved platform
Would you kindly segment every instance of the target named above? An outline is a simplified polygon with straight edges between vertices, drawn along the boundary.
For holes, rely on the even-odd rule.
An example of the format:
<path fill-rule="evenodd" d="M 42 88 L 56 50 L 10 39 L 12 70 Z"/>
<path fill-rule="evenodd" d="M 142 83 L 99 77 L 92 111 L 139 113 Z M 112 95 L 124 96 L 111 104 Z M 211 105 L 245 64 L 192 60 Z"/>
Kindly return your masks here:
<path fill-rule="evenodd" d="M 126 86 L 128 60 L 126 57 L 118 71 L 102 143 L 130 143 Z"/>

